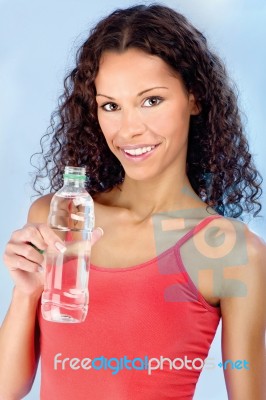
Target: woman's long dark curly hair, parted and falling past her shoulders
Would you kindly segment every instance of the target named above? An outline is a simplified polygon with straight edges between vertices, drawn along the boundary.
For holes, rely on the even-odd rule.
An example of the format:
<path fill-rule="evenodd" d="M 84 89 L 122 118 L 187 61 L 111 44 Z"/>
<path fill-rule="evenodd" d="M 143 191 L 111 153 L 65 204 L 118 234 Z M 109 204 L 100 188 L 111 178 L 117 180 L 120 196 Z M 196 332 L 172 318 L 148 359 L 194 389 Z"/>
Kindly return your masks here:
<path fill-rule="evenodd" d="M 42 151 L 35 153 L 43 156 L 43 164 L 34 189 L 42 194 L 39 183 L 48 177 L 50 192 L 56 191 L 65 165 L 86 167 L 92 196 L 123 181 L 124 169 L 98 123 L 94 81 L 104 51 L 129 48 L 160 57 L 195 95 L 201 112 L 191 116 L 187 152 L 187 175 L 195 192 L 221 215 L 256 216 L 262 178 L 243 134 L 234 85 L 203 34 L 183 15 L 160 4 L 117 9 L 91 30 L 78 50 L 76 67 L 64 80 L 58 109 L 41 140 Z"/>

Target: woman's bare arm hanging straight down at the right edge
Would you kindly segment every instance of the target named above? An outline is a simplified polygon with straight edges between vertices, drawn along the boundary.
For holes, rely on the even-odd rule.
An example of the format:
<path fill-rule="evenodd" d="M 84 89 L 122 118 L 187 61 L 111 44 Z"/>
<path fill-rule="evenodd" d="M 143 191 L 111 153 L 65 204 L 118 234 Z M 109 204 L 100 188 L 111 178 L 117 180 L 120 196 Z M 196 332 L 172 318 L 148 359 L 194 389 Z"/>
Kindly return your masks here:
<path fill-rule="evenodd" d="M 225 272 L 222 311 L 222 354 L 229 400 L 266 398 L 266 245 L 246 230 L 247 262 Z M 226 282 L 241 281 L 240 294 Z M 237 287 L 237 285 L 236 285 Z M 231 361 L 229 361 L 231 360 Z M 237 360 L 240 360 L 237 364 Z M 234 367 L 234 368 L 233 368 Z"/>

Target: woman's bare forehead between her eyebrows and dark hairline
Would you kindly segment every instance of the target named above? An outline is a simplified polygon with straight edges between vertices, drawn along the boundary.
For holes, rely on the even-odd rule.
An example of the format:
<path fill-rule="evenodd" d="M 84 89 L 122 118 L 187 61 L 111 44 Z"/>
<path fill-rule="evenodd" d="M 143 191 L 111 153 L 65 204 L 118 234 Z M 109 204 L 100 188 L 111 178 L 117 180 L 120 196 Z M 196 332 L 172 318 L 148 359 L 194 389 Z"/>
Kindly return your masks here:
<path fill-rule="evenodd" d="M 130 82 L 156 83 L 177 78 L 177 73 L 160 57 L 139 49 L 128 49 L 123 53 L 106 51 L 100 59 L 95 79 L 96 88 L 111 87 Z"/>

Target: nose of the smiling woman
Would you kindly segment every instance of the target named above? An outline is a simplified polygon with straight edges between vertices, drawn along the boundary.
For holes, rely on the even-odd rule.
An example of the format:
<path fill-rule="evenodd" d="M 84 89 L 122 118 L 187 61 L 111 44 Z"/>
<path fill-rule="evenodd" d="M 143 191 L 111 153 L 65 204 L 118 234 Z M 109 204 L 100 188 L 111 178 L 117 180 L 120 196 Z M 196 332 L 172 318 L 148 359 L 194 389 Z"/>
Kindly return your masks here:
<path fill-rule="evenodd" d="M 123 138 L 142 135 L 146 130 L 146 125 L 138 109 L 124 109 L 120 122 L 119 135 Z"/>

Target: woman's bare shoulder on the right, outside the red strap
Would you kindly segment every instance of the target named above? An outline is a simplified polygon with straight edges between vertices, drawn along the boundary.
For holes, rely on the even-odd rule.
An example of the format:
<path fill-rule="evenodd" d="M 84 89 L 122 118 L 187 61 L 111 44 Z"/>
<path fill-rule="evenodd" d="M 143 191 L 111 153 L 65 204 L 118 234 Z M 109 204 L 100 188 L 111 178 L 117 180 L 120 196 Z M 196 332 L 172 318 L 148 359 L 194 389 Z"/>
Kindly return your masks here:
<path fill-rule="evenodd" d="M 253 297 L 266 283 L 266 244 L 234 218 L 213 219 L 193 237 L 197 262 L 213 274 L 213 291 L 221 306 Z M 257 289 L 256 289 L 257 288 Z"/>

